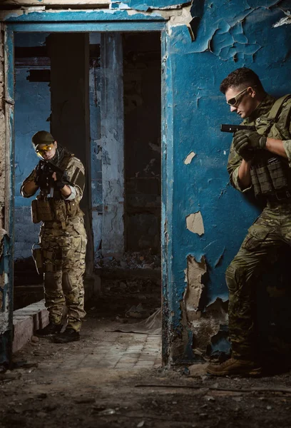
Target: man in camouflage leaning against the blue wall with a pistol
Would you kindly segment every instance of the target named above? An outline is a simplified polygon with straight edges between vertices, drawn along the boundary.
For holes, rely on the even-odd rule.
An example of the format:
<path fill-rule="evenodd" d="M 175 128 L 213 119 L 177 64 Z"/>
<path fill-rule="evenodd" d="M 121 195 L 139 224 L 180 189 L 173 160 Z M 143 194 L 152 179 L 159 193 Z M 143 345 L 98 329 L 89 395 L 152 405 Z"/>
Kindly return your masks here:
<path fill-rule="evenodd" d="M 275 100 L 258 76 L 238 68 L 220 85 L 230 111 L 255 131 L 233 137 L 228 158 L 230 183 L 240 192 L 255 193 L 265 209 L 249 228 L 238 254 L 226 271 L 229 290 L 229 333 L 232 357 L 208 373 L 260 374 L 257 350 L 255 287 L 257 276 L 274 260 L 283 243 L 291 245 L 291 96 Z"/>

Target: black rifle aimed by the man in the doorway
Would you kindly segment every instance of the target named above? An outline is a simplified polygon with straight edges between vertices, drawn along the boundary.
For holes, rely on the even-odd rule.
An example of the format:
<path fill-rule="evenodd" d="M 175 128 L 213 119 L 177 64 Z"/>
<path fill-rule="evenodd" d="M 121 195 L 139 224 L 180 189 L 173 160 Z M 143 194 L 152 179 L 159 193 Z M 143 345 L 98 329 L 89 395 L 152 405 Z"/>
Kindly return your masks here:
<path fill-rule="evenodd" d="M 41 160 L 36 165 L 36 184 L 39 185 L 41 191 L 53 198 L 53 189 L 55 180 L 53 180 L 53 173 L 56 173 L 56 178 L 60 180 L 64 171 L 58 166 L 54 165 L 51 161 Z"/>

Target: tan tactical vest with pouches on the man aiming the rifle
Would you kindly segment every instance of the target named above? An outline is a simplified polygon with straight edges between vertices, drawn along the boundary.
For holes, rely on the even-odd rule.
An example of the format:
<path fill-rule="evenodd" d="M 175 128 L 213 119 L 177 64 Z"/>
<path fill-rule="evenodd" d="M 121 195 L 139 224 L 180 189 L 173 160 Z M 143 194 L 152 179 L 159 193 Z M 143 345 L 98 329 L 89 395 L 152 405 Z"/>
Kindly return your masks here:
<path fill-rule="evenodd" d="M 59 165 L 61 170 L 66 170 L 69 161 L 73 158 L 73 154 L 68 154 L 63 157 L 63 161 Z M 71 185 L 76 183 L 78 174 L 72 177 Z M 60 190 L 55 190 L 53 198 L 48 198 L 48 195 L 41 192 L 36 196 L 36 199 L 31 202 L 31 218 L 33 223 L 57 222 L 61 223 L 63 229 L 66 228 L 66 221 L 71 218 L 83 215 L 76 200 L 64 200 Z"/>

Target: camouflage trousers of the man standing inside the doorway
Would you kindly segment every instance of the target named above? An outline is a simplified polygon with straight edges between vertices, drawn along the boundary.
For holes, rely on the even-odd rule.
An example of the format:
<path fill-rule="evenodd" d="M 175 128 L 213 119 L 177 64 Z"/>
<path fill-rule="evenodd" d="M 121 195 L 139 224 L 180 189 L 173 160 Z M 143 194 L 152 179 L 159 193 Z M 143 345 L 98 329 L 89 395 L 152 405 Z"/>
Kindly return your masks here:
<path fill-rule="evenodd" d="M 67 326 L 81 329 L 84 311 L 83 273 L 85 272 L 86 230 L 83 218 L 66 223 L 46 222 L 39 234 L 44 254 L 44 295 L 49 320 L 60 324 L 67 310 Z"/>

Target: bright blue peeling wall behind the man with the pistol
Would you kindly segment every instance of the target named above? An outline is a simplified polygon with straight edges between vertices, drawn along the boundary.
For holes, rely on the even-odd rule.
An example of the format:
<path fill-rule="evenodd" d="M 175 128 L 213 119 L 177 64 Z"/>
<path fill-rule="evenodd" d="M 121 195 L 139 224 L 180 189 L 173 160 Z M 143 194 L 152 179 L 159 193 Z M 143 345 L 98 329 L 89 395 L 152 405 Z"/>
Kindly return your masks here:
<path fill-rule="evenodd" d="M 276 3 L 198 1 L 192 7 L 193 17 L 197 16 L 192 21 L 195 40 L 190 40 L 185 26 L 173 26 L 168 34 L 165 73 L 169 88 L 173 85 L 168 96 L 172 109 L 168 119 L 173 115 L 173 183 L 167 183 L 173 186 L 173 218 L 167 226 L 173 254 L 173 259 L 168 255 L 168 315 L 173 360 L 211 352 L 211 336 L 219 336 L 221 325 L 227 323 L 223 313 L 223 300 L 228 298 L 225 269 L 260 213 L 260 208 L 228 183 L 226 165 L 232 136 L 220 133 L 220 123 L 240 123 L 240 118 L 230 113 L 219 86 L 228 73 L 247 66 L 272 95 L 291 91 L 290 26 L 274 26 L 285 16 Z M 283 2 L 279 3 L 282 7 Z M 195 156 L 185 162 L 192 152 Z M 195 213 L 202 216 L 204 233 L 200 223 L 194 231 L 186 227 L 186 218 Z M 195 233 L 195 228 L 202 234 Z M 204 276 L 203 270 L 207 270 Z M 195 272 L 200 275 L 205 287 L 201 286 L 201 296 L 193 297 L 197 311 L 189 321 L 185 273 L 187 279 L 191 272 L 192 277 Z M 201 340 L 199 329 L 205 321 L 212 333 Z M 212 351 L 229 351 L 227 340 L 220 345 L 214 344 Z"/>

